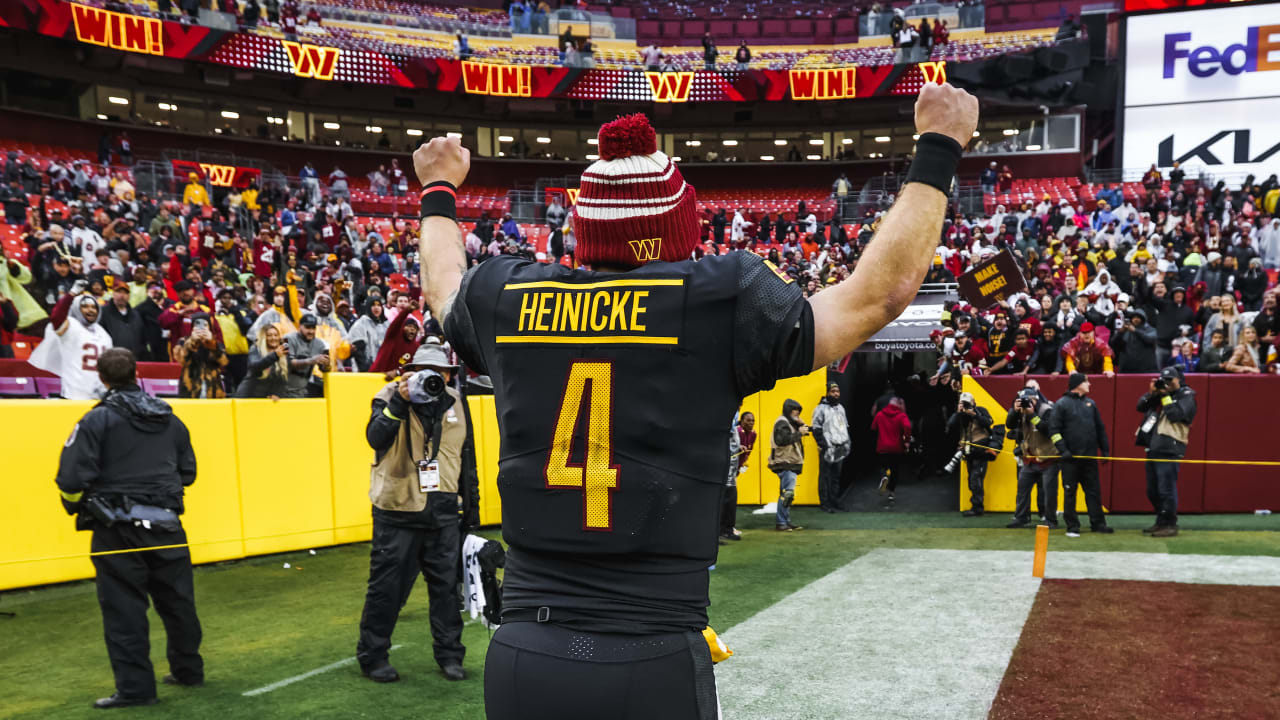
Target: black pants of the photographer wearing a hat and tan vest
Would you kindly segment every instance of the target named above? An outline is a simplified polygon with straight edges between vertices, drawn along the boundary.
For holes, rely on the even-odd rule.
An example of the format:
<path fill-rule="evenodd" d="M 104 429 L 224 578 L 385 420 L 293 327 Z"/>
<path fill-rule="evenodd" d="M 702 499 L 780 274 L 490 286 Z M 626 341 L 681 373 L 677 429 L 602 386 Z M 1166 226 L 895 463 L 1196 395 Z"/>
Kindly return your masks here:
<path fill-rule="evenodd" d="M 462 612 L 458 609 L 461 542 L 456 520 L 443 521 L 435 529 L 403 528 L 374 515 L 369 591 L 356 644 L 361 667 L 374 667 L 387 660 L 396 620 L 419 573 L 426 579 L 435 661 L 442 667 L 462 664 L 466 648 L 462 647 Z"/>

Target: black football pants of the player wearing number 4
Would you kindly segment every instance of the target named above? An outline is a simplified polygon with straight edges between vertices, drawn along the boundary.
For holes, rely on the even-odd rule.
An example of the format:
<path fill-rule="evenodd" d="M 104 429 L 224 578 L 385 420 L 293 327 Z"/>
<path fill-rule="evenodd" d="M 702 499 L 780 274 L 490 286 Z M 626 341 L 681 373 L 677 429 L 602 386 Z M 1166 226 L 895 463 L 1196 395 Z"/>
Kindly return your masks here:
<path fill-rule="evenodd" d="M 488 720 L 716 720 L 700 633 L 581 633 L 506 623 L 484 666 Z"/>

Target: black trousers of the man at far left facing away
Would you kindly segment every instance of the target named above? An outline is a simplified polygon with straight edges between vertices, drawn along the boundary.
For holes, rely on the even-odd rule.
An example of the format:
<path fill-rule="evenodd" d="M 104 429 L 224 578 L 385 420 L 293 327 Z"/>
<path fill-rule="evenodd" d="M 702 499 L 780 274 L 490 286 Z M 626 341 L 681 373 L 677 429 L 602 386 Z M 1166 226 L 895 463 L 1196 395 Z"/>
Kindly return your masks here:
<path fill-rule="evenodd" d="M 166 533 L 116 524 L 95 528 L 91 548 L 102 552 L 186 542 L 186 530 Z M 115 691 L 129 698 L 156 696 L 147 625 L 148 597 L 155 602 L 169 638 L 169 671 L 183 683 L 204 682 L 205 661 L 200 657 L 201 630 L 196 616 L 191 552 L 178 547 L 100 555 L 93 557 L 93 568 L 97 570 L 97 603 L 102 607 L 102 632 L 115 675 Z"/>

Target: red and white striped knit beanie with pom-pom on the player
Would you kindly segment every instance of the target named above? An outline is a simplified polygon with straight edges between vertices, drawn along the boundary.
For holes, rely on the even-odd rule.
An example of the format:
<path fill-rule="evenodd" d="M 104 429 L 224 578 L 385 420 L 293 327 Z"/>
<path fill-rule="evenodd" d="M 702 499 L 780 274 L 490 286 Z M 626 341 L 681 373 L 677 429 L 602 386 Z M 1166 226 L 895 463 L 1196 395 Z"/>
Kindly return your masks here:
<path fill-rule="evenodd" d="M 573 209 L 577 259 L 637 268 L 687 260 L 698 245 L 694 186 L 666 154 L 643 114 L 600 127 L 600 159 L 582 173 Z"/>

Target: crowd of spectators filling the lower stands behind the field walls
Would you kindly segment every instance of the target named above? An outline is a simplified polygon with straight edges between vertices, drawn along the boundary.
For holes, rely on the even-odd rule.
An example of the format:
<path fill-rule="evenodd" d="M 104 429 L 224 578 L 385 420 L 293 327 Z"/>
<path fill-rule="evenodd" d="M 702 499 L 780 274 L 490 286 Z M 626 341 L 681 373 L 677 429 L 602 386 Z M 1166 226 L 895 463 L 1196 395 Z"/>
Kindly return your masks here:
<path fill-rule="evenodd" d="M 88 293 L 116 346 L 145 361 L 183 366 L 191 397 L 303 397 L 326 372 L 394 373 L 439 327 L 417 305 L 415 220 L 360 222 L 347 176 L 308 164 L 297 183 L 219 190 L 191 176 L 182 199 L 136 193 L 127 167 L 50 165 L 31 177 L 20 156 L 4 168 L 5 222 L 20 224 L 23 251 L 0 273 L 4 333 L 40 337 L 73 297 Z M 991 215 L 956 214 L 940 238 L 927 283 L 950 283 L 1010 250 L 1028 291 L 987 311 L 948 306 L 934 382 L 950 373 L 1152 373 L 1277 370 L 1276 270 L 1280 182 L 1242 187 L 1172 181 L 1152 169 L 1143 197 L 1117 187 L 1096 208 L 1027 201 Z M 1148 173 L 1151 174 L 1151 173 Z M 403 193 L 398 163 L 374 173 L 379 193 Z M 836 181 L 833 192 L 838 193 Z M 38 202 L 28 205 L 28 192 Z M 847 192 L 847 190 L 846 190 Z M 470 263 L 498 254 L 573 263 L 572 210 L 544 211 L 548 242 L 511 215 L 463 224 Z M 695 256 L 754 251 L 820 292 L 847 278 L 882 211 L 844 224 L 794 213 L 721 209 L 701 220 Z M 10 246 L 12 249 L 13 246 Z M 72 313 L 84 322 L 82 313 Z"/>

